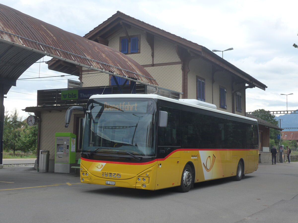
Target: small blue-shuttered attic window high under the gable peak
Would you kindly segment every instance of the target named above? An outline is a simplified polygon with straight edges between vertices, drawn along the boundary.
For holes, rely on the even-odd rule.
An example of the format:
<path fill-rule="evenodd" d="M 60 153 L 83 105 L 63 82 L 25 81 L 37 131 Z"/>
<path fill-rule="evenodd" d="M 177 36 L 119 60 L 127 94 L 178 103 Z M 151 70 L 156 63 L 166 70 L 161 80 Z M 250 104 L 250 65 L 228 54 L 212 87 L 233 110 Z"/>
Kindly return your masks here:
<path fill-rule="evenodd" d="M 119 51 L 123 54 L 140 53 L 140 35 L 129 36 L 129 39 L 120 37 Z"/>

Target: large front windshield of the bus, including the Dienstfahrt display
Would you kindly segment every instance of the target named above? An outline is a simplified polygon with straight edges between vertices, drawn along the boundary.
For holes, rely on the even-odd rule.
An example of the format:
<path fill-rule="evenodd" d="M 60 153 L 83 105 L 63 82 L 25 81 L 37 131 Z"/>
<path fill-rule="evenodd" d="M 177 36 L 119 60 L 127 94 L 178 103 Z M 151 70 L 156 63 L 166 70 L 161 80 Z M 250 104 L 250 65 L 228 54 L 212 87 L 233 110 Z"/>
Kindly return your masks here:
<path fill-rule="evenodd" d="M 155 116 L 156 102 L 153 99 L 90 99 L 82 154 L 109 160 L 119 160 L 119 157 L 141 160 L 155 156 Z"/>

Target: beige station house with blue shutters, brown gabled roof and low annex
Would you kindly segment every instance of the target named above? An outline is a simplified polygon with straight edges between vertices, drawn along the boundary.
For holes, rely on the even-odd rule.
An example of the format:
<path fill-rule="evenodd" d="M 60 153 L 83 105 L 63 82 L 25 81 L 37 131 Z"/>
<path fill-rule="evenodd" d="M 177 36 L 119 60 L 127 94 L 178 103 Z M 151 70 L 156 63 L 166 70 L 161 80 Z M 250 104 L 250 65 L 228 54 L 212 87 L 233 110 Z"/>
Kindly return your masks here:
<path fill-rule="evenodd" d="M 136 61 L 156 80 L 159 91 L 174 92 L 178 98 L 197 99 L 212 103 L 218 110 L 246 116 L 245 90 L 266 85 L 235 67 L 202 45 L 166 32 L 148 23 L 117 12 L 84 36 L 86 39 L 108 46 L 126 54 Z M 109 60 L 118 58 L 109 58 Z M 123 61 L 126 62 L 126 61 Z M 119 62 L 121 64 L 121 61 Z M 82 83 L 80 89 L 123 89 L 134 84 L 134 79 L 126 81 L 86 67 L 73 66 L 67 62 L 48 62 L 51 70 L 74 74 Z M 113 73 L 113 70 L 111 70 Z M 125 76 L 125 75 L 123 75 Z M 154 86 L 150 86 L 154 87 Z M 79 90 L 80 90 L 79 89 Z M 58 94 L 61 95 L 59 89 Z M 121 90 L 119 90 L 121 92 Z M 133 90 L 132 90 L 133 91 Z M 94 91 L 95 92 L 95 91 Z M 111 92 L 114 92 L 111 90 Z M 116 92 L 116 91 L 115 91 Z M 152 92 L 152 91 L 151 91 Z M 154 91 L 153 91 L 154 92 Z M 109 92 L 110 93 L 110 92 Z M 146 89 L 143 93 L 146 93 Z M 46 94 L 43 92 L 43 94 Z M 60 99 L 62 101 L 62 97 Z M 84 102 L 86 103 L 86 102 Z M 80 157 L 80 138 L 83 128 L 83 114 L 74 112 L 68 128 L 64 128 L 66 109 L 69 103 L 39 104 L 24 109 L 34 112 L 39 123 L 39 150 L 50 151 L 50 167 L 53 171 L 55 133 L 71 132 L 77 136 L 77 158 Z"/>

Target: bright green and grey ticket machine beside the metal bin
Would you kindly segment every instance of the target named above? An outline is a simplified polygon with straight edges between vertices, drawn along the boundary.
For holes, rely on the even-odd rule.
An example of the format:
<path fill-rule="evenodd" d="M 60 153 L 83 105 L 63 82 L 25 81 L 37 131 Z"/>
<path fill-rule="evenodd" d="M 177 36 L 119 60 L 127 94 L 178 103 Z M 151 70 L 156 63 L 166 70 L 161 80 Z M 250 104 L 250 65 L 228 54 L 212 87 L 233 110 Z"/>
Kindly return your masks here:
<path fill-rule="evenodd" d="M 55 133 L 55 173 L 70 173 L 75 166 L 75 144 L 75 134 Z"/>

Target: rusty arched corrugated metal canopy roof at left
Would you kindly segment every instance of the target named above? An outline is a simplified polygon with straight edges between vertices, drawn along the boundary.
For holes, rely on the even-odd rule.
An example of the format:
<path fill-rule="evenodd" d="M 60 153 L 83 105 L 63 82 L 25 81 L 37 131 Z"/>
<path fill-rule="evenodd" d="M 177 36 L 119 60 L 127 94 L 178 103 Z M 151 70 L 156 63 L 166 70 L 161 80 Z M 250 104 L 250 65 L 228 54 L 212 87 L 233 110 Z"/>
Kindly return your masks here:
<path fill-rule="evenodd" d="M 0 79 L 16 80 L 30 65 L 48 55 L 158 85 L 141 65 L 121 52 L 3 4 L 0 30 Z"/>

